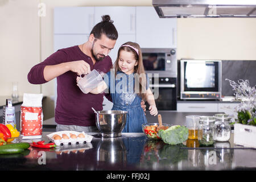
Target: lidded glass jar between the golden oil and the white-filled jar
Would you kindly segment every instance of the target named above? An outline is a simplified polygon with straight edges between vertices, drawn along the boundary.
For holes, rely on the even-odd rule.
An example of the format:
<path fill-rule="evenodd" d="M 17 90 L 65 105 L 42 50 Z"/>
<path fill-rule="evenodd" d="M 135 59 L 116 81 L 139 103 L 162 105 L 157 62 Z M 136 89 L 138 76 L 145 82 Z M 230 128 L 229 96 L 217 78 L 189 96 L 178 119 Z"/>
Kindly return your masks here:
<path fill-rule="evenodd" d="M 214 143 L 214 117 L 203 116 L 200 117 L 200 145 L 211 146 Z"/>

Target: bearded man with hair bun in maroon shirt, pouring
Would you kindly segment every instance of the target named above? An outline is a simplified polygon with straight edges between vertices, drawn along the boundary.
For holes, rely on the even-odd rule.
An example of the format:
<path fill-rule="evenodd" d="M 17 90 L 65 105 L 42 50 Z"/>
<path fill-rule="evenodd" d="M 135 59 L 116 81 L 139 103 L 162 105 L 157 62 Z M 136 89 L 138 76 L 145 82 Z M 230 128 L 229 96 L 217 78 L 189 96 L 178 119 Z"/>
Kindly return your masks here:
<path fill-rule="evenodd" d="M 98 131 L 92 107 L 102 110 L 104 93 L 82 93 L 76 85 L 76 77 L 87 74 L 90 69 L 109 72 L 113 64 L 108 54 L 117 38 L 113 20 L 104 15 L 102 21 L 93 27 L 87 42 L 59 49 L 31 68 L 27 76 L 31 84 L 44 84 L 57 77 L 56 131 Z M 110 94 L 105 96 L 111 101 Z M 142 107 L 145 107 L 144 102 Z"/>

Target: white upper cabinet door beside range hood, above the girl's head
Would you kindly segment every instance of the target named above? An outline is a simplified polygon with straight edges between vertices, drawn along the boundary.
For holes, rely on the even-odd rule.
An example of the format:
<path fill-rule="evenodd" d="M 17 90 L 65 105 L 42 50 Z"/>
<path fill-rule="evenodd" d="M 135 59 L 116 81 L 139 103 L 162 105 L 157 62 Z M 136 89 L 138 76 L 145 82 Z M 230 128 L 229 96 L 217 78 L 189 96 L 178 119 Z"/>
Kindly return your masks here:
<path fill-rule="evenodd" d="M 159 18 L 154 7 L 136 7 L 136 41 L 142 48 L 176 48 L 177 19 Z"/>

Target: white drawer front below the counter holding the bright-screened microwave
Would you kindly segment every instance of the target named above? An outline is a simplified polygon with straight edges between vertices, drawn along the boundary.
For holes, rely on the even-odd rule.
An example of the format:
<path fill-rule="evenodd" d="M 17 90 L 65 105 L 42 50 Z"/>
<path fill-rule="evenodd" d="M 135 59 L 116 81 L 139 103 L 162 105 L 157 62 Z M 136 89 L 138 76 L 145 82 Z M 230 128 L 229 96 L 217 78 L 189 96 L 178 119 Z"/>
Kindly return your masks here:
<path fill-rule="evenodd" d="M 217 112 L 217 103 L 177 103 L 177 112 Z"/>

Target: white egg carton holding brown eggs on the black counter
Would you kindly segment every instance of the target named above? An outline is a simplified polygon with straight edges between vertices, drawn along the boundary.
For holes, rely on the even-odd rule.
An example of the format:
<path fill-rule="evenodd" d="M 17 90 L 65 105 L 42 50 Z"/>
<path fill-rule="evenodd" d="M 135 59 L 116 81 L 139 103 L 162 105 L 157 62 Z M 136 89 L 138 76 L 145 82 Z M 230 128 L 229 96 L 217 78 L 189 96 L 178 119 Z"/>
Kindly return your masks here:
<path fill-rule="evenodd" d="M 78 136 L 79 134 L 84 134 L 84 138 L 70 138 L 70 134 L 75 134 L 76 136 Z M 60 137 L 62 137 L 63 134 L 66 134 L 69 139 L 63 139 L 61 138 L 60 140 L 55 140 L 53 139 L 53 135 L 60 135 Z M 88 143 L 92 141 L 93 136 L 92 135 L 88 135 L 85 134 L 84 131 L 82 132 L 78 132 L 78 131 L 57 131 L 55 133 L 51 133 L 48 134 L 47 137 L 49 138 L 49 140 L 51 140 L 52 142 L 54 142 L 56 144 L 56 146 L 61 146 L 61 145 L 68 145 L 68 144 L 80 144 L 80 143 Z"/>

